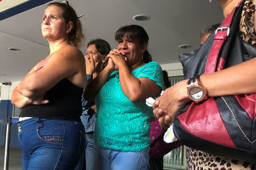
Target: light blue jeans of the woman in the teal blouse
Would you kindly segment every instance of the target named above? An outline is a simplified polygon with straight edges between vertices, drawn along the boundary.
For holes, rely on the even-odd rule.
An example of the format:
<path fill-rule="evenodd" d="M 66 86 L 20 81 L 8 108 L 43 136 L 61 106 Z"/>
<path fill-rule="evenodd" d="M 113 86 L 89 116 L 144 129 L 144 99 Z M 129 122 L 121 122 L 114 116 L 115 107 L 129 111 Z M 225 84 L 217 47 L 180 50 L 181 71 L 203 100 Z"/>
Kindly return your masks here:
<path fill-rule="evenodd" d="M 144 151 L 116 151 L 97 146 L 94 152 L 94 170 L 148 170 L 149 152 L 148 147 Z"/>

